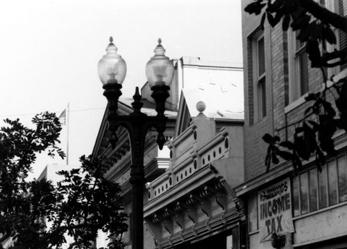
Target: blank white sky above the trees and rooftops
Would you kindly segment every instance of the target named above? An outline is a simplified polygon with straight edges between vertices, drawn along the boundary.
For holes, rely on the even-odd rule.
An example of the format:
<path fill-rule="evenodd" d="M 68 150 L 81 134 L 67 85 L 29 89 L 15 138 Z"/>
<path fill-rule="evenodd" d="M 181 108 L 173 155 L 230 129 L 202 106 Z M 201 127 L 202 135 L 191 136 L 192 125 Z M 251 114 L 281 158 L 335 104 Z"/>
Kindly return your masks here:
<path fill-rule="evenodd" d="M 40 111 L 59 116 L 69 102 L 69 163 L 77 164 L 91 154 L 105 110 L 96 65 L 110 35 L 126 60 L 127 97 L 146 82 L 158 37 L 171 58 L 242 66 L 241 11 L 241 0 L 1 1 L 0 119 L 28 125 Z M 35 177 L 47 163 L 62 160 L 40 156 Z"/>

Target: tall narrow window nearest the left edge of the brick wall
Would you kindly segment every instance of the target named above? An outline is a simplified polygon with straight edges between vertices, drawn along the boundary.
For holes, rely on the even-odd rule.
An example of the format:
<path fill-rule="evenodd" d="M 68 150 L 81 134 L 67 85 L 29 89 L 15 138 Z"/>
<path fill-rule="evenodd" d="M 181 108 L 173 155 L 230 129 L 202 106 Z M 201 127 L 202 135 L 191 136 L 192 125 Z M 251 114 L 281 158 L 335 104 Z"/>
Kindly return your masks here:
<path fill-rule="evenodd" d="M 265 43 L 264 33 L 258 31 L 252 38 L 253 51 L 253 89 L 256 104 L 255 120 L 266 116 L 266 77 L 265 77 Z"/>

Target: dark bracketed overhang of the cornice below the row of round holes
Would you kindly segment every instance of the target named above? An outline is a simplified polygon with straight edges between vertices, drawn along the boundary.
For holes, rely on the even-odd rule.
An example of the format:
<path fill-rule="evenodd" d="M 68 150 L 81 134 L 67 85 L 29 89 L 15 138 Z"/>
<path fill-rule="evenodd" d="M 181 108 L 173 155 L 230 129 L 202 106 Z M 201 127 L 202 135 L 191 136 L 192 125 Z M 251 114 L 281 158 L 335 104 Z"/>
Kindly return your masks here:
<path fill-rule="evenodd" d="M 189 187 L 180 196 L 176 194 L 175 198 L 166 201 L 154 212 L 148 210 L 149 205 L 145 206 L 145 223 L 155 237 L 158 248 L 171 248 L 226 230 L 244 219 L 244 213 L 235 208 L 238 202 L 235 196 L 230 196 L 210 167 L 205 170 L 214 177 L 208 177 L 209 180 L 204 183 L 192 184 L 195 188 Z"/>

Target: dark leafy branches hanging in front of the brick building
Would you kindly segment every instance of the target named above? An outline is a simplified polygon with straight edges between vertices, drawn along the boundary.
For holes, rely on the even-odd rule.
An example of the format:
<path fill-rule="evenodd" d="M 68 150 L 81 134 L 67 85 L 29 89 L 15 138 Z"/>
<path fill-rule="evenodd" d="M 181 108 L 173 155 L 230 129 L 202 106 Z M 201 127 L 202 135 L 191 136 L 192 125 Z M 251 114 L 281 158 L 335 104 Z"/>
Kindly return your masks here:
<path fill-rule="evenodd" d="M 347 79 L 333 82 L 333 77 L 330 78 L 337 93 L 337 96 L 334 95 L 336 111 L 332 102 L 327 100 L 328 91 L 331 90 L 325 75 L 325 68 L 347 62 L 347 48 L 327 51 L 327 44 L 337 44 L 334 28 L 347 33 L 347 19 L 319 6 L 313 0 L 255 0 L 246 6 L 245 11 L 249 14 L 262 14 L 262 29 L 267 19 L 271 27 L 282 21 L 282 30 L 287 31 L 289 27 L 297 30 L 296 39 L 305 42 L 311 66 L 321 68 L 325 86 L 323 91 L 310 93 L 305 98 L 312 105 L 305 110 L 301 120 L 277 129 L 280 131 L 295 125 L 292 140 L 281 142 L 279 136 L 264 135 L 263 140 L 269 144 L 265 158 L 266 171 L 271 163 L 280 162 L 278 156 L 291 161 L 295 172 L 302 167 L 301 160 L 315 156 L 316 167 L 321 169 L 321 165 L 325 164 L 325 155 L 337 156 L 332 138 L 335 132 L 338 129 L 347 131 Z"/>

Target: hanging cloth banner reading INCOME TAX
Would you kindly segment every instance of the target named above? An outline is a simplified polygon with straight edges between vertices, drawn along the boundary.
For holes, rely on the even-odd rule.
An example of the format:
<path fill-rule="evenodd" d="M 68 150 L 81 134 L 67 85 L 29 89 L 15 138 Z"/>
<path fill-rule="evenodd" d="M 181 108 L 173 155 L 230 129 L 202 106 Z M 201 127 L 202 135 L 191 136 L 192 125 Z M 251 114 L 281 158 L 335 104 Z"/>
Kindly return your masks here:
<path fill-rule="evenodd" d="M 260 242 L 294 232 L 289 178 L 258 192 Z"/>

